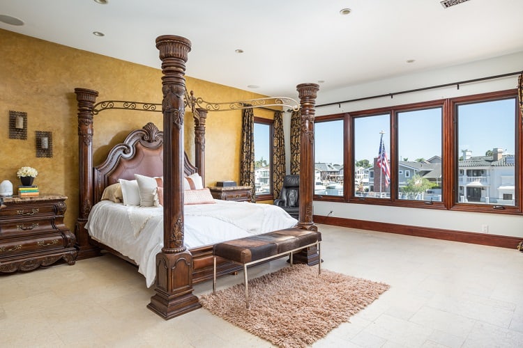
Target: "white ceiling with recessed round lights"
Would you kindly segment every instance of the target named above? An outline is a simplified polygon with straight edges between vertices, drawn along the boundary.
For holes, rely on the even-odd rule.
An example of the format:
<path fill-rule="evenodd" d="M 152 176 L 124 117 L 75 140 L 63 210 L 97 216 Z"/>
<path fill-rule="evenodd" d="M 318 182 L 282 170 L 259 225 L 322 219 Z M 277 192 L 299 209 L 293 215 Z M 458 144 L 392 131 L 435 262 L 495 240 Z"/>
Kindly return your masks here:
<path fill-rule="evenodd" d="M 188 76 L 293 97 L 523 52 L 522 13 L 522 0 L 1 0 L 24 25 L 0 29 L 153 68 L 156 37 L 181 35 Z"/>

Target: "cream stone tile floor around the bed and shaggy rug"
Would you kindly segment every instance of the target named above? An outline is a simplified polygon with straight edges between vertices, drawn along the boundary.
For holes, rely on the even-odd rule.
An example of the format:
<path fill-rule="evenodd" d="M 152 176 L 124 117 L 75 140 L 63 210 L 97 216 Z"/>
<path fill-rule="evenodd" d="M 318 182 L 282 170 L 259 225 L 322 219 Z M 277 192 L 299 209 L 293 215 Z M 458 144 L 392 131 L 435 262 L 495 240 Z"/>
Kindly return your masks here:
<path fill-rule="evenodd" d="M 314 347 L 523 347 L 523 253 L 319 226 L 322 267 L 391 289 Z M 252 277 L 285 266 L 259 265 Z M 227 287 L 242 274 L 220 278 Z M 211 291 L 210 282 L 195 294 Z M 0 276 L 0 347 L 271 347 L 204 309 L 169 321 L 135 267 L 105 255 Z"/>

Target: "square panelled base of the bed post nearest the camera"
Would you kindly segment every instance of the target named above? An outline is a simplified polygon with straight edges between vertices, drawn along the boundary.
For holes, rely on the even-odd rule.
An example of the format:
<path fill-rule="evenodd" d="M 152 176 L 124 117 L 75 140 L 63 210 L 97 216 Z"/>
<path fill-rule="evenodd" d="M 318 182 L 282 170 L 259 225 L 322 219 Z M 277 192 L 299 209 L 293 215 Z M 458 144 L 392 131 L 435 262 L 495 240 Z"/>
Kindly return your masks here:
<path fill-rule="evenodd" d="M 192 294 L 192 255 L 159 253 L 156 255 L 156 294 L 147 308 L 163 319 L 172 319 L 202 305 Z"/>

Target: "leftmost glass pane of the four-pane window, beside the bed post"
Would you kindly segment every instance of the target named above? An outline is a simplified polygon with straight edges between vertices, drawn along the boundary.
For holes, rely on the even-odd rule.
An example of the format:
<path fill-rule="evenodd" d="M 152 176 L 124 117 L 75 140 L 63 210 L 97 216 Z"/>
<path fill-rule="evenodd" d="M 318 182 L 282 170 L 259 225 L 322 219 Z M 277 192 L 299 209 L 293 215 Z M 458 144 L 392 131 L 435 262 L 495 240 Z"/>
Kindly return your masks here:
<path fill-rule="evenodd" d="M 314 194 L 343 196 L 343 120 L 314 123 Z"/>

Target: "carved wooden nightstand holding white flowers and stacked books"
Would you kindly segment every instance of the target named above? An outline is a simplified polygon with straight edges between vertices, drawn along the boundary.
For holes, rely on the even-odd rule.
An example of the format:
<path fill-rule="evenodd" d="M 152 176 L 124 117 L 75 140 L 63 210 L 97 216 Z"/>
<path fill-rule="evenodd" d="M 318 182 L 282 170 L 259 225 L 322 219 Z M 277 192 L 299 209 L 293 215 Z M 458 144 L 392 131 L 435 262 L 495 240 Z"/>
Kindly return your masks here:
<path fill-rule="evenodd" d="M 75 264 L 75 235 L 63 223 L 66 196 L 6 197 L 0 207 L 0 272 Z"/>

